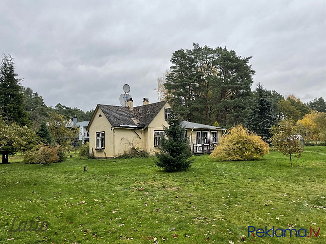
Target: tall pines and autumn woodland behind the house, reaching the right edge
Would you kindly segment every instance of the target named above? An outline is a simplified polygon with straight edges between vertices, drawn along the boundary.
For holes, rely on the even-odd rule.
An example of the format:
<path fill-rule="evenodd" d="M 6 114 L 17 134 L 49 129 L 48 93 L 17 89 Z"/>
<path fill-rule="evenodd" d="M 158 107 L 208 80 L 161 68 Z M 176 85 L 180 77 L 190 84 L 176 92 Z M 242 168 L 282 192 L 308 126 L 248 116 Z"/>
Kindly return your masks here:
<path fill-rule="evenodd" d="M 326 112 L 322 97 L 305 104 L 292 94 L 284 97 L 260 83 L 252 91 L 255 71 L 250 59 L 227 48 L 194 44 L 191 50 L 172 54 L 172 66 L 158 79 L 155 90 L 159 100 L 170 100 L 184 120 L 226 128 L 249 125 L 259 99 L 266 100 L 261 110 L 269 111 L 274 124 L 281 119 L 297 122 L 311 110 Z"/>

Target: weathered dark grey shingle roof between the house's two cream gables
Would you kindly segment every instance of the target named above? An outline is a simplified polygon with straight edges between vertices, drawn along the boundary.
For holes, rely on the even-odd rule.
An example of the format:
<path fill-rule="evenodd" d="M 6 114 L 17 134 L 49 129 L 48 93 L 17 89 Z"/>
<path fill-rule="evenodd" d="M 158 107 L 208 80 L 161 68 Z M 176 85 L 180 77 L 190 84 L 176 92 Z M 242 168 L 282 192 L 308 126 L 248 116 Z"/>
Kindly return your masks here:
<path fill-rule="evenodd" d="M 142 105 L 130 109 L 129 107 L 103 105 L 99 108 L 114 127 L 145 128 L 153 121 L 167 101 Z"/>

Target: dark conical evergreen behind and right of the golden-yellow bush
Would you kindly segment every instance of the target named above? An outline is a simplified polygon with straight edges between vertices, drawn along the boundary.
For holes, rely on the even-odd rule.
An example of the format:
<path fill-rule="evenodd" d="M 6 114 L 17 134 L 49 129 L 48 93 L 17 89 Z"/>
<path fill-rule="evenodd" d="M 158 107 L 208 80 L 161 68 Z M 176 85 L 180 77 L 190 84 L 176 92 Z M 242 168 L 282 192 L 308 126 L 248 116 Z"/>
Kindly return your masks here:
<path fill-rule="evenodd" d="M 265 89 L 260 83 L 258 83 L 255 93 L 255 106 L 247 119 L 247 126 L 255 134 L 268 141 L 271 137 L 270 129 L 275 124 L 272 115 L 272 103 L 267 99 Z"/>

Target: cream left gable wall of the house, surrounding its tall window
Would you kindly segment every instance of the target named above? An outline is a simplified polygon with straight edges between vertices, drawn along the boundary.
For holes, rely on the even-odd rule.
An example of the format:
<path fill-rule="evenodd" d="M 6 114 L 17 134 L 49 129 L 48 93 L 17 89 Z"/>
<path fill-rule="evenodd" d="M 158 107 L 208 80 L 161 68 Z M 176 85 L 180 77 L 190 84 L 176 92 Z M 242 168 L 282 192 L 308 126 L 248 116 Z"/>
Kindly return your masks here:
<path fill-rule="evenodd" d="M 99 115 L 102 117 L 99 117 Z M 112 125 L 105 117 L 103 111 L 98 108 L 94 115 L 94 119 L 90 125 L 90 153 L 93 148 L 95 157 L 114 157 L 113 152 L 113 129 L 111 130 Z M 96 132 L 104 131 L 104 150 L 95 150 L 96 148 Z"/>

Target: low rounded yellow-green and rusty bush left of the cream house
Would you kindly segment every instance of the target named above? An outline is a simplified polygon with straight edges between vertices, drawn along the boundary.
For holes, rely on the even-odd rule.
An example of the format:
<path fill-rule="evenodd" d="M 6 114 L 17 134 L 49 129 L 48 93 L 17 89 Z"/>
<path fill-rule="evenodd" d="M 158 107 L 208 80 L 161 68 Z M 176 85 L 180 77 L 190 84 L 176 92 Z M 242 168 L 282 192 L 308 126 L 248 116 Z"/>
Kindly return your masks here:
<path fill-rule="evenodd" d="M 66 151 L 61 146 L 39 144 L 25 154 L 23 163 L 49 165 L 50 163 L 63 162 L 66 159 Z"/>

